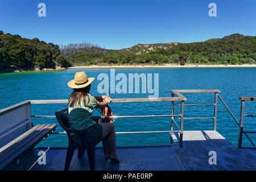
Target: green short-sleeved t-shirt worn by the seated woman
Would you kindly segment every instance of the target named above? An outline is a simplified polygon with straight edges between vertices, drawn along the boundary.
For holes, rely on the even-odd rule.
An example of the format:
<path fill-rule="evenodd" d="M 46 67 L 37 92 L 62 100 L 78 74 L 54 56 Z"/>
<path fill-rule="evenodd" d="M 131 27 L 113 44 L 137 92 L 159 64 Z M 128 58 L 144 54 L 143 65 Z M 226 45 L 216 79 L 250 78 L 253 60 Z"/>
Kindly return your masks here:
<path fill-rule="evenodd" d="M 69 113 L 69 128 L 76 130 L 84 130 L 88 127 L 94 125 L 92 121 L 92 112 L 93 107 L 98 104 L 98 101 L 95 97 L 88 94 L 88 97 L 85 98 L 85 104 L 83 98 L 81 98 L 80 105 L 79 102 L 76 103 L 74 107 L 68 107 Z M 74 135 L 74 133 L 71 133 Z"/>

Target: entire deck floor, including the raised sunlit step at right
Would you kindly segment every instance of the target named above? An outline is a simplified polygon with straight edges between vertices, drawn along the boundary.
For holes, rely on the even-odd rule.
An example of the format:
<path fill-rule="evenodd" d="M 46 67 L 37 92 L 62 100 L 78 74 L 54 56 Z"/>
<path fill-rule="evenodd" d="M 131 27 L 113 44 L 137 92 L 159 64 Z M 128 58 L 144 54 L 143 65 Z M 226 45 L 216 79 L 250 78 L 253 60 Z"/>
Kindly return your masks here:
<path fill-rule="evenodd" d="M 34 148 L 8 170 L 28 170 L 39 158 Z M 209 151 L 216 151 L 217 164 L 210 165 Z M 32 170 L 63 170 L 67 148 L 49 149 L 46 164 L 35 164 Z M 119 147 L 117 154 L 121 162 L 105 161 L 102 148 L 96 148 L 96 170 L 256 170 L 256 150 L 239 149 L 217 131 L 184 131 L 183 148 L 179 146 Z M 73 156 L 69 170 L 89 170 L 84 158 Z"/>

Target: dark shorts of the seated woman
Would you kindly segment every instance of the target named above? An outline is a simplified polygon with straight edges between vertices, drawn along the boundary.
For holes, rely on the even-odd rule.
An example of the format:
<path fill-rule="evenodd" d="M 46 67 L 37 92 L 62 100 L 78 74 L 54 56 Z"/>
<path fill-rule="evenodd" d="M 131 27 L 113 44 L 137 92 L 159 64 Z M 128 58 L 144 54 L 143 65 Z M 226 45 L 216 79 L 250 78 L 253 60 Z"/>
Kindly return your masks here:
<path fill-rule="evenodd" d="M 103 128 L 101 125 L 94 124 L 88 129 L 85 129 L 85 137 L 87 143 L 100 143 L 103 134 Z M 72 140 L 76 143 L 81 143 L 80 135 L 75 134 L 71 136 Z"/>

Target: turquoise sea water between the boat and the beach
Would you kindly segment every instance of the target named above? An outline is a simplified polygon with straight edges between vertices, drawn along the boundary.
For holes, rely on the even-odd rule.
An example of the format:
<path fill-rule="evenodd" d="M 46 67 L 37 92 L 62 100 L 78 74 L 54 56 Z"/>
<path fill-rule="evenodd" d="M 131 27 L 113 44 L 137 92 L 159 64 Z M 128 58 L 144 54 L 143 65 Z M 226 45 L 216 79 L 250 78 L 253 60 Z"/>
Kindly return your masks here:
<path fill-rule="evenodd" d="M 110 69 L 67 69 L 53 72 L 21 72 L 0 74 L 0 109 L 24 100 L 68 99 L 72 92 L 67 82 L 75 72 L 85 71 L 88 77 L 96 77 L 90 93 L 97 93 L 100 73 L 110 75 Z M 239 96 L 256 96 L 256 68 L 128 68 L 115 69 L 115 74 L 158 73 L 159 97 L 170 97 L 171 89 L 220 89 L 220 96 L 230 107 L 235 117 L 240 118 Z M 118 81 L 116 81 L 117 83 Z M 214 93 L 184 94 L 185 104 L 213 104 Z M 112 94 L 112 98 L 148 97 L 148 94 Z M 177 103 L 179 104 L 179 103 Z M 255 114 L 255 102 L 246 102 L 245 114 Z M 158 115 L 170 114 L 170 102 L 111 103 L 114 115 Z M 32 115 L 54 115 L 54 111 L 67 107 L 66 104 L 32 105 Z M 185 117 L 213 117 L 213 106 L 186 106 Z M 99 115 L 94 110 L 93 115 Z M 238 125 L 218 100 L 217 131 L 237 146 Z M 56 118 L 32 118 L 37 123 L 57 123 Z M 160 131 L 170 130 L 170 118 L 122 118 L 115 119 L 116 131 Z M 255 118 L 245 118 L 245 130 L 256 130 Z M 184 130 L 212 130 L 212 120 L 185 120 Z M 174 129 L 175 130 L 175 129 Z M 59 126 L 56 131 L 62 132 Z M 249 134 L 256 143 L 256 134 Z M 169 134 L 122 134 L 117 135 L 118 146 L 169 144 Z M 67 146 L 67 136 L 50 135 L 39 146 Z M 243 137 L 243 146 L 250 146 Z"/>

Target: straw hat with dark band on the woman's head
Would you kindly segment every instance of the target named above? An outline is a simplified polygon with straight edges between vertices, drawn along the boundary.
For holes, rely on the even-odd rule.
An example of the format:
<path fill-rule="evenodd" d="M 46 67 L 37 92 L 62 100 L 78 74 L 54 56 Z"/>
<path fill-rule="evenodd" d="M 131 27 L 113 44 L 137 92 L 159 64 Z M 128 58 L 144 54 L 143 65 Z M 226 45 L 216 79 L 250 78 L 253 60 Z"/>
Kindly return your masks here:
<path fill-rule="evenodd" d="M 85 72 L 76 72 L 75 79 L 68 82 L 68 86 L 72 89 L 80 89 L 90 85 L 94 78 L 88 78 Z"/>

